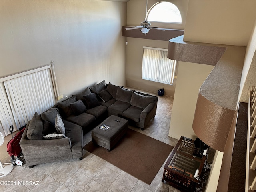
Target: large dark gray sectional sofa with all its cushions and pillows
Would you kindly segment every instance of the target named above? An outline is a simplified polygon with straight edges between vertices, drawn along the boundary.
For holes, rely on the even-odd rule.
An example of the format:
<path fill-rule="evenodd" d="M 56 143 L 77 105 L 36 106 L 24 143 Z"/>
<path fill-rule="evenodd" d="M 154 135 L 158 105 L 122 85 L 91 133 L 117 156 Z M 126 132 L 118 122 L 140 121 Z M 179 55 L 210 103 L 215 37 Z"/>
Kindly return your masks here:
<path fill-rule="evenodd" d="M 158 97 L 128 90 L 105 80 L 58 102 L 28 122 L 20 146 L 30 167 L 82 158 L 83 135 L 110 115 L 144 130 L 156 115 Z M 54 134 L 53 134 L 54 133 Z"/>

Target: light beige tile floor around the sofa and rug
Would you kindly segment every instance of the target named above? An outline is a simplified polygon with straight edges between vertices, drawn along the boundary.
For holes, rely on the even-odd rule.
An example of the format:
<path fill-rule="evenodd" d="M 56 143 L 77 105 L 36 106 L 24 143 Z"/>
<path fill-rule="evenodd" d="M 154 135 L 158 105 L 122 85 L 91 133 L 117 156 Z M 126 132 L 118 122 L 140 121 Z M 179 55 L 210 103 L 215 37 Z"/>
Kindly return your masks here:
<path fill-rule="evenodd" d="M 151 92 L 146 93 L 154 94 Z M 154 95 L 157 96 L 157 94 Z M 132 126 L 129 126 L 129 128 L 175 146 L 178 140 L 168 136 L 172 103 L 173 98 L 167 96 L 158 97 L 157 113 L 148 127 L 144 131 Z M 84 136 L 84 144 L 90 142 L 90 133 Z M 2 160 L 3 163 L 9 161 L 9 158 Z M 158 184 L 162 182 L 164 164 L 152 183 L 148 185 L 98 156 L 84 151 L 84 158 L 82 160 L 57 161 L 40 164 L 31 169 L 14 166 L 14 169 L 8 176 L 0 178 L 0 191 L 154 192 Z M 6 181 L 4 184 L 7 185 L 2 185 L 2 181 Z"/>

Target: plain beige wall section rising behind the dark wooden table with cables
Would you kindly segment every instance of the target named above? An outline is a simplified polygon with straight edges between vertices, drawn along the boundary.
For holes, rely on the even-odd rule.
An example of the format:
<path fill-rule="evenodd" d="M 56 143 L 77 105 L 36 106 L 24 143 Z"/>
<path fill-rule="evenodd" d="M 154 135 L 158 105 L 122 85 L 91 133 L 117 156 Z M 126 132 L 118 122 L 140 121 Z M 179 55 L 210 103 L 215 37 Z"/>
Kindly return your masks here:
<path fill-rule="evenodd" d="M 196 138 L 192 123 L 198 92 L 213 68 L 214 66 L 210 65 L 180 62 L 169 136 L 176 139 L 179 139 L 180 136 Z"/>

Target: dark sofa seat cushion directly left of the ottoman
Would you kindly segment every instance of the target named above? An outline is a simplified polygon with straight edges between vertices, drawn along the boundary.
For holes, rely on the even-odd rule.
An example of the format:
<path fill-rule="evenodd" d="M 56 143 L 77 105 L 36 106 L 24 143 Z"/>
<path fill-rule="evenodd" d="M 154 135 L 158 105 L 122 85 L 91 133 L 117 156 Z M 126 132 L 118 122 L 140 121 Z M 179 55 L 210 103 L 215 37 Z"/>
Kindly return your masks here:
<path fill-rule="evenodd" d="M 67 118 L 68 121 L 80 125 L 82 128 L 85 128 L 89 124 L 91 124 L 96 118 L 88 113 L 82 113 L 78 116 L 69 116 Z"/>

